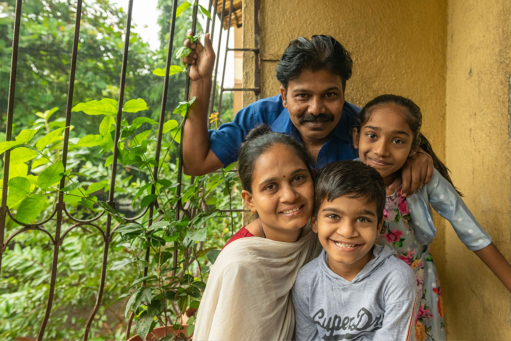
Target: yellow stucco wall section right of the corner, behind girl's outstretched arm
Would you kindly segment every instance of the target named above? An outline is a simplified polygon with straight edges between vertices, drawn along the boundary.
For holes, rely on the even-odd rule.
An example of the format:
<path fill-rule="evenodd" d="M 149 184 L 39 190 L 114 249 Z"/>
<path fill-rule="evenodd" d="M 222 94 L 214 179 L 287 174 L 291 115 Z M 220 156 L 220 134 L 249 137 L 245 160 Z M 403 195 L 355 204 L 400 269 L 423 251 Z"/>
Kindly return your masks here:
<path fill-rule="evenodd" d="M 447 34 L 447 163 L 465 202 L 510 260 L 511 2 L 450 1 Z M 509 340 L 510 295 L 484 264 L 446 234 L 450 335 Z"/>

